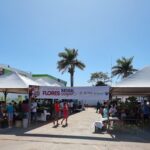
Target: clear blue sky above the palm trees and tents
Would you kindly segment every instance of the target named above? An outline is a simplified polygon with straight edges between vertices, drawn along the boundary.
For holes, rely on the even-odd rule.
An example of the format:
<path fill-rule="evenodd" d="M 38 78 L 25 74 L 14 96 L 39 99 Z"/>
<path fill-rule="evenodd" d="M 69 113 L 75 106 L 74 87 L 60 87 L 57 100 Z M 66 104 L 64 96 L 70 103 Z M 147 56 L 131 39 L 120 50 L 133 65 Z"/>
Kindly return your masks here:
<path fill-rule="evenodd" d="M 50 74 L 70 85 L 57 70 L 58 53 L 79 50 L 84 71 L 75 86 L 90 85 L 93 72 L 110 73 L 122 56 L 150 65 L 149 0 L 0 0 L 0 64 Z"/>

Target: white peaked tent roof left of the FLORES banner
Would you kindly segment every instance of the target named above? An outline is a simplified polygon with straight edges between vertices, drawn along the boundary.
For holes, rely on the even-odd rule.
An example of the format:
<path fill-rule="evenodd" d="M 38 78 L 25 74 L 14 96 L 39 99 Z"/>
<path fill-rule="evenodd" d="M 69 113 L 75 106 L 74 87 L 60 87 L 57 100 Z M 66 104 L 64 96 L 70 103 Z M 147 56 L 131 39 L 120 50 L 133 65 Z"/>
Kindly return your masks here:
<path fill-rule="evenodd" d="M 10 93 L 27 93 L 29 85 L 39 85 L 29 77 L 16 72 L 0 76 L 0 91 Z"/>

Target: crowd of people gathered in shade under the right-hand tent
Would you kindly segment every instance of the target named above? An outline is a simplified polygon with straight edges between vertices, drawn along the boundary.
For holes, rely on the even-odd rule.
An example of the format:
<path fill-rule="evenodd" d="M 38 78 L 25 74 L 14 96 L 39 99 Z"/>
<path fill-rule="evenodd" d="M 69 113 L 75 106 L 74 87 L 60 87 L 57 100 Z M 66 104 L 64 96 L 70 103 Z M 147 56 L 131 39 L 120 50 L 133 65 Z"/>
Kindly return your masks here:
<path fill-rule="evenodd" d="M 150 105 L 147 101 L 144 101 L 143 103 L 130 103 L 130 105 L 129 103 L 127 103 L 128 105 L 126 103 L 127 102 L 112 103 L 108 105 L 107 102 L 104 102 L 103 104 L 97 102 L 96 112 L 100 113 L 103 118 L 108 118 L 108 116 L 118 117 L 119 119 L 130 123 L 140 120 L 150 120 Z"/>

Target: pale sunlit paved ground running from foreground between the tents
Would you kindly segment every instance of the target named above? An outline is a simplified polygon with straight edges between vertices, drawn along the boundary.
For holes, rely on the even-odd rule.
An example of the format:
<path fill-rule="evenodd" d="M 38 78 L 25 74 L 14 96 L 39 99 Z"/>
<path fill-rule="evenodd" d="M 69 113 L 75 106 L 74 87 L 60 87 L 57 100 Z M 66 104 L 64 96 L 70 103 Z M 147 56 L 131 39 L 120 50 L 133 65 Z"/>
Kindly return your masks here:
<path fill-rule="evenodd" d="M 99 115 L 92 108 L 69 117 L 68 127 L 52 123 L 0 130 L 0 150 L 149 150 L 150 140 L 127 134 L 95 134 Z"/>

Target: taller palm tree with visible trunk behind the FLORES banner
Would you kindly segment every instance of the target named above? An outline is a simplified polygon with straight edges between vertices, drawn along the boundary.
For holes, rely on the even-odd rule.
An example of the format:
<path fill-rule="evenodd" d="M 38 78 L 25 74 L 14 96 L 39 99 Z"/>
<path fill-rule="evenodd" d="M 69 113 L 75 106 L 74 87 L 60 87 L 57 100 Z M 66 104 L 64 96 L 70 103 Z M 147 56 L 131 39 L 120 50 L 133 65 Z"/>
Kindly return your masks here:
<path fill-rule="evenodd" d="M 58 56 L 61 60 L 57 62 L 57 68 L 59 71 L 62 71 L 62 73 L 65 71 L 70 73 L 70 85 L 73 87 L 75 67 L 83 70 L 85 68 L 85 64 L 77 59 L 78 50 L 76 49 L 65 48 L 65 51 L 60 52 Z"/>

